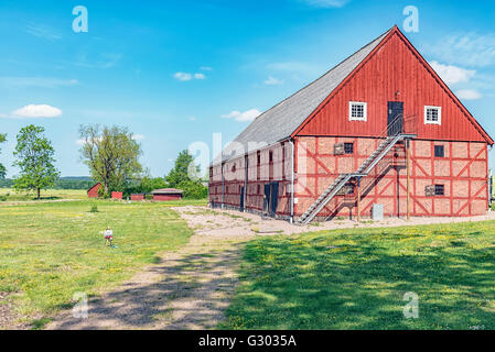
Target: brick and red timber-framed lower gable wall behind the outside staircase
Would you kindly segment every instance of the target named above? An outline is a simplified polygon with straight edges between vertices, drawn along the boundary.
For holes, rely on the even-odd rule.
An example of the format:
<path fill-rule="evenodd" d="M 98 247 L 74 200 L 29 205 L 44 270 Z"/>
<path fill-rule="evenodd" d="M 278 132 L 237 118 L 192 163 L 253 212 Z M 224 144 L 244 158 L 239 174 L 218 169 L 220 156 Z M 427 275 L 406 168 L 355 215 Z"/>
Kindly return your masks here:
<path fill-rule="evenodd" d="M 335 155 L 334 144 L 353 143 L 354 154 Z M 378 147 L 379 139 L 304 136 L 297 139 L 298 183 L 295 215 L 300 216 L 340 174 L 352 173 Z M 443 146 L 444 157 L 434 156 Z M 412 140 L 410 143 L 411 217 L 466 217 L 487 210 L 487 145 L 485 143 Z M 398 144 L 362 179 L 363 217 L 381 204 L 388 217 L 407 216 L 406 145 Z M 443 196 L 426 194 L 441 185 Z M 356 218 L 356 193 L 332 199 L 319 218 Z"/>

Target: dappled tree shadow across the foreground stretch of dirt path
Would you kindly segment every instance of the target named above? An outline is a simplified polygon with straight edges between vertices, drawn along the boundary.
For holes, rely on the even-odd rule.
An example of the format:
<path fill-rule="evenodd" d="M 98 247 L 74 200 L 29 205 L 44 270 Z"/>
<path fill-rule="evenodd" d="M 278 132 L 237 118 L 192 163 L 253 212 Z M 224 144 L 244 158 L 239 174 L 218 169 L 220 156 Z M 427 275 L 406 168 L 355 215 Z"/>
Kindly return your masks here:
<path fill-rule="evenodd" d="M 147 273 L 163 275 L 163 279 L 123 284 L 108 295 L 89 299 L 88 319 L 73 318 L 67 312 L 50 328 L 214 329 L 234 293 L 236 279 L 228 273 L 239 261 L 239 246 L 160 261 Z M 62 308 L 67 309 L 65 305 Z"/>

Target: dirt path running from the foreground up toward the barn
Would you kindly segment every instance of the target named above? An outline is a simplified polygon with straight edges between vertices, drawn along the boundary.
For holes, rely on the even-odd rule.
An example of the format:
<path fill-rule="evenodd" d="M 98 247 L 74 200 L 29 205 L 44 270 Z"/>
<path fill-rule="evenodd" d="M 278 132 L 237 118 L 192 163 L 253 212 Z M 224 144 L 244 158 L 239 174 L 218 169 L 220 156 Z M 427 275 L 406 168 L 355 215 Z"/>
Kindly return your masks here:
<path fill-rule="evenodd" d="M 255 237 L 244 217 L 213 213 L 205 208 L 176 208 L 196 229 L 187 245 L 163 255 L 119 289 L 90 299 L 88 318 L 63 312 L 47 329 L 213 329 L 237 284 L 243 244 Z M 229 231 L 203 233 L 204 227 Z"/>

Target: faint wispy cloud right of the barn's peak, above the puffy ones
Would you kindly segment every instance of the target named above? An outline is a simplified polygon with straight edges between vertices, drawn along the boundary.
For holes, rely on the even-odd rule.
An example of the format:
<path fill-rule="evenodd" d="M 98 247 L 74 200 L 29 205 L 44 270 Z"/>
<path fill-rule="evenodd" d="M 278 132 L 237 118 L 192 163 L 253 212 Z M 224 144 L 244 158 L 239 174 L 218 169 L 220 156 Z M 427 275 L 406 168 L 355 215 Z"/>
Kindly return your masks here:
<path fill-rule="evenodd" d="M 424 45 L 423 52 L 450 64 L 485 67 L 495 64 L 495 33 L 463 33 Z"/>

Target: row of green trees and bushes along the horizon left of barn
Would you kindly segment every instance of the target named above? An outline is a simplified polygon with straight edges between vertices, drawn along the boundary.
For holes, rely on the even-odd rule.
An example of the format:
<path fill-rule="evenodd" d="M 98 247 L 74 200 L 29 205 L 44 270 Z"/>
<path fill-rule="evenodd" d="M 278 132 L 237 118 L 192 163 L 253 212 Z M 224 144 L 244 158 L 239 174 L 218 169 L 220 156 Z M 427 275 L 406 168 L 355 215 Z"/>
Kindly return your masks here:
<path fill-rule="evenodd" d="M 44 131 L 44 128 L 33 124 L 20 130 L 13 152 L 15 161 L 12 164 L 19 168 L 19 175 L 7 180 L 7 168 L 0 164 L 0 186 L 3 184 L 15 190 L 34 191 L 37 199 L 42 189 L 75 188 L 71 187 L 75 180 L 60 177 L 55 167 L 55 151 Z M 194 164 L 189 151 L 179 154 L 169 175 L 153 178 L 139 162 L 142 155 L 141 145 L 133 139 L 129 129 L 118 125 L 80 125 L 79 136 L 79 157 L 87 165 L 94 180 L 78 180 L 79 187 L 89 188 L 94 183 L 101 183 L 100 196 L 104 198 L 109 197 L 114 190 L 123 191 L 127 197 L 130 194 L 147 194 L 166 187 L 184 190 L 185 198 L 200 199 L 207 196 L 207 188 L 203 186 L 200 177 L 200 167 Z M 0 134 L 0 144 L 6 141 L 7 135 Z"/>

